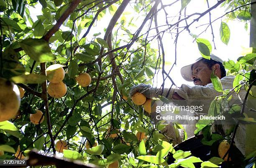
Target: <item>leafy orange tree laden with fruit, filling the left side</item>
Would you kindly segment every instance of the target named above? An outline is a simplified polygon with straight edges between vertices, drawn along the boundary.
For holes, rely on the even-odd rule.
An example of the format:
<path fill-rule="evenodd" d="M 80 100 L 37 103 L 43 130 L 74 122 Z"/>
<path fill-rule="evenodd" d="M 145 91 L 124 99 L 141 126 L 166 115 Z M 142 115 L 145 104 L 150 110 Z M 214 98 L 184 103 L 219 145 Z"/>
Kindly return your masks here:
<path fill-rule="evenodd" d="M 164 80 L 172 81 L 170 71 L 164 69 L 164 33 L 175 33 L 177 46 L 180 33 L 220 6 L 230 9 L 220 18 L 242 20 L 246 26 L 251 19 L 248 0 L 216 0 L 211 6 L 207 1 L 208 8 L 202 13 L 186 14 L 189 3 L 0 0 L 0 158 L 24 158 L 36 148 L 39 153 L 63 153 L 71 160 L 111 168 L 168 167 L 169 155 L 176 160 L 169 167 L 194 167 L 193 163 L 216 167 L 223 162 L 220 158 L 202 161 L 189 151 L 175 151 L 171 141 L 162 140 L 165 125 L 151 124 L 141 105 L 128 98 L 133 85 L 152 84 L 159 69 Z M 166 8 L 173 5 L 179 6 L 180 15 L 170 20 Z M 31 14 L 35 11 L 40 12 L 36 18 Z M 166 16 L 161 25 L 157 22 L 159 11 Z M 214 21 L 210 15 L 207 28 Z M 210 42 L 192 37 L 202 56 L 208 58 Z M 227 23 L 221 22 L 223 43 L 227 44 L 229 37 Z M 248 67 L 255 60 L 253 53 L 238 63 L 225 64 L 248 88 L 253 85 L 246 80 L 250 78 Z M 220 89 L 218 80 L 213 81 L 215 89 Z M 206 127 L 198 125 L 202 125 L 199 130 Z M 35 156 L 45 159 L 37 152 L 31 152 L 29 158 Z M 28 163 L 64 165 L 61 160 Z"/>

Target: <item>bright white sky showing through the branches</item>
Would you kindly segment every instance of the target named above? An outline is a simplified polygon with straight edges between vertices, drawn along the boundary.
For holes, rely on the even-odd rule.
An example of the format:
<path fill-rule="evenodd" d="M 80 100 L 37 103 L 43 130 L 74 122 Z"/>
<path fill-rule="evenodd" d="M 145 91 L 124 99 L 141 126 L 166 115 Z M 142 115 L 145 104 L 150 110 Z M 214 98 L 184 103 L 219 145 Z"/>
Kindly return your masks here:
<path fill-rule="evenodd" d="M 209 1 L 210 1 L 210 7 L 217 2 L 217 0 L 209 0 Z M 170 1 L 163 0 L 163 3 L 170 3 Z M 37 20 L 36 15 L 41 15 L 41 10 L 37 10 L 37 9 L 41 9 L 41 5 L 39 3 L 38 3 L 38 5 L 36 5 L 36 9 L 30 7 L 31 16 L 34 21 Z M 168 17 L 170 17 L 169 18 L 170 21 L 172 19 L 171 17 L 178 15 L 178 12 L 179 12 L 178 9 L 180 9 L 180 2 L 176 3 L 172 7 L 166 8 L 166 12 L 168 13 Z M 191 0 L 191 2 L 187 5 L 187 15 L 195 13 L 195 12 L 202 13 L 205 10 L 207 10 L 207 4 L 205 1 L 197 1 L 195 3 L 195 0 Z M 227 11 L 229 11 L 229 10 L 227 10 Z M 144 16 L 140 17 L 138 15 L 135 15 L 135 13 L 133 13 L 133 8 L 129 5 L 125 9 L 125 13 L 126 13 L 126 15 L 125 15 L 126 18 L 129 18 L 129 17 L 131 18 L 132 16 L 135 16 L 135 18 L 138 17 L 137 20 L 136 19 L 133 20 L 134 24 L 136 24 L 138 26 L 141 24 L 141 18 L 144 18 Z M 214 20 L 215 18 L 218 18 L 219 16 L 223 15 L 224 13 L 225 13 L 225 8 L 218 7 L 217 9 L 212 11 L 212 20 Z M 107 15 L 109 15 L 110 17 L 107 17 Z M 109 12 L 107 10 L 104 20 L 102 19 L 100 21 L 97 21 L 96 24 L 97 25 L 107 25 L 109 23 L 110 18 L 111 18 L 111 15 L 109 14 Z M 127 19 L 127 20 L 129 20 L 129 19 Z M 165 21 L 166 20 L 165 20 L 164 11 L 161 10 L 161 12 L 158 15 L 159 25 L 165 24 Z M 202 33 L 200 35 L 200 38 L 206 38 L 208 41 L 210 41 L 212 44 L 212 53 L 215 54 L 216 56 L 219 56 L 221 59 L 223 59 L 223 61 L 227 61 L 228 59 L 232 59 L 232 60 L 236 61 L 236 59 L 240 56 L 239 54 L 241 53 L 242 49 L 249 47 L 249 31 L 245 30 L 244 22 L 241 23 L 240 21 L 237 21 L 237 20 L 225 20 L 225 17 L 223 18 L 223 21 L 228 24 L 230 31 L 231 31 L 230 41 L 228 43 L 228 46 L 226 46 L 220 40 L 219 29 L 220 29 L 221 19 L 212 23 L 213 31 L 214 31 L 214 35 L 215 35 L 215 45 L 216 45 L 217 50 L 214 50 L 210 27 L 207 29 L 206 33 Z M 202 25 L 205 23 L 209 23 L 209 15 L 207 14 L 204 17 L 202 17 L 200 19 L 199 23 L 195 23 L 195 25 L 199 26 L 199 25 Z M 199 28 L 195 28 L 195 26 L 192 26 L 192 27 L 190 27 L 190 31 L 193 34 L 198 35 L 199 33 L 201 33 L 202 31 L 205 30 L 206 26 L 200 26 Z M 97 26 L 97 27 L 99 27 L 99 26 Z M 62 26 L 61 29 L 63 31 L 67 31 L 67 28 L 65 28 L 64 26 Z M 133 30 L 133 29 L 136 30 L 136 28 L 131 28 L 130 30 Z M 248 24 L 248 30 L 250 30 L 249 24 Z M 82 32 L 85 32 L 85 31 L 86 31 L 86 29 L 84 29 Z M 103 38 L 103 36 L 104 36 L 103 30 L 99 30 L 98 28 L 96 28 L 96 29 L 94 28 L 91 31 L 92 31 L 91 34 L 102 32 L 102 34 L 100 36 L 98 36 L 100 38 Z M 161 29 L 160 29 L 160 31 L 161 31 Z M 83 33 L 81 33 L 81 34 L 83 34 Z M 171 35 L 170 33 L 165 33 L 164 38 L 163 38 L 166 62 L 170 62 L 170 63 L 174 62 L 174 38 L 175 38 L 174 36 L 175 35 Z M 90 39 L 90 38 L 88 37 L 88 39 Z M 183 31 L 179 35 L 178 47 L 177 47 L 177 65 L 174 66 L 172 72 L 170 73 L 170 76 L 172 77 L 172 79 L 174 80 L 175 84 L 177 84 L 178 87 L 181 84 L 189 84 L 192 86 L 194 85 L 192 82 L 185 81 L 180 74 L 180 69 L 182 68 L 182 66 L 191 64 L 195 59 L 197 59 L 198 57 L 201 56 L 199 53 L 199 50 L 197 48 L 197 43 L 193 42 L 193 41 L 194 41 L 194 39 L 192 38 L 192 36 L 189 35 L 189 33 L 187 31 Z M 152 45 L 152 46 L 155 46 L 155 48 L 157 48 L 157 43 L 155 43 L 155 45 Z M 168 69 L 171 67 L 171 65 L 172 64 L 166 65 L 166 71 L 169 71 Z M 156 85 L 156 78 L 154 81 L 155 81 L 154 87 L 161 86 L 161 84 L 162 84 L 161 72 L 159 72 L 159 75 L 157 76 L 157 85 Z M 169 81 L 169 79 L 166 79 L 165 86 L 170 86 L 170 84 L 171 84 L 171 82 Z"/>

